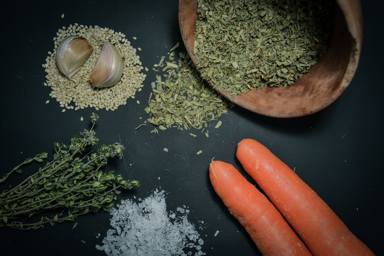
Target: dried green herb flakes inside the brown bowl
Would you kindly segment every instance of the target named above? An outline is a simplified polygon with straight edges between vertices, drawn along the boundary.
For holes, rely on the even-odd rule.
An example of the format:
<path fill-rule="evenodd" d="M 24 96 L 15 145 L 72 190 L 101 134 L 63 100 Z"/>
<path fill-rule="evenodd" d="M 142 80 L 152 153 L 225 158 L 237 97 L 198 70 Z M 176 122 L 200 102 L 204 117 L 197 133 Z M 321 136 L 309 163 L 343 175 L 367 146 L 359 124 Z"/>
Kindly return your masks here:
<path fill-rule="evenodd" d="M 329 7 L 328 0 L 198 0 L 202 78 L 233 97 L 291 85 L 326 50 Z"/>

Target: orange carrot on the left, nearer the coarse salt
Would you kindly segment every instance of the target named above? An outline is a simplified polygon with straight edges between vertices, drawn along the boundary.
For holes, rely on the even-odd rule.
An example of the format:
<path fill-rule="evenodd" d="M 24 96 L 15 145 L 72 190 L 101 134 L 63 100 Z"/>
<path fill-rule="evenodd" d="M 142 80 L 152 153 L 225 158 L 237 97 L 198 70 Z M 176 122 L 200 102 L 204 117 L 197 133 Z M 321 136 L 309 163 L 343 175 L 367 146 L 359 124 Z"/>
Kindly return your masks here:
<path fill-rule="evenodd" d="M 213 161 L 209 178 L 225 206 L 245 227 L 263 255 L 311 255 L 275 206 L 235 167 Z"/>

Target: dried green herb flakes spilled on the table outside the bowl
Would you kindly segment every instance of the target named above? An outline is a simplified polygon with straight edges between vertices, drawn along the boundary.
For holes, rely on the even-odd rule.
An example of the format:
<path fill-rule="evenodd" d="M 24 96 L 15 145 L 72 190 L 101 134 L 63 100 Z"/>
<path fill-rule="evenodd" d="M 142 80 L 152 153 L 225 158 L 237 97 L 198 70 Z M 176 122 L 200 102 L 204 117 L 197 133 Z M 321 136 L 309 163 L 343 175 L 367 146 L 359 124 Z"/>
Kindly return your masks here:
<path fill-rule="evenodd" d="M 201 129 L 207 127 L 207 122 L 227 113 L 227 107 L 232 107 L 233 103 L 222 98 L 202 80 L 188 55 L 180 52 L 177 62 L 174 60 L 172 51 L 178 45 L 171 49 L 169 60 L 163 56 L 155 64 L 155 71 L 162 68 L 161 71 L 166 73 L 164 78 L 157 75 L 156 82 L 152 82 L 154 97 L 145 111 L 151 114 L 149 123 L 158 125 L 161 130 L 172 125 L 181 130 Z"/>

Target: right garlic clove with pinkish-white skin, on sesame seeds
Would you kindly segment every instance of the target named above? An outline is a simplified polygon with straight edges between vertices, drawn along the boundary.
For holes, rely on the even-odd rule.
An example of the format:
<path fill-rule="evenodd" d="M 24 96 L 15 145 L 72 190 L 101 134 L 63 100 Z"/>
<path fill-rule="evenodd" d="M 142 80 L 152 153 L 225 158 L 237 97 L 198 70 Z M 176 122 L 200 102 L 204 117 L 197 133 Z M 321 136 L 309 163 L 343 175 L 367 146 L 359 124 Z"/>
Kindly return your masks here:
<path fill-rule="evenodd" d="M 96 60 L 89 80 L 98 88 L 113 86 L 120 80 L 124 68 L 124 62 L 120 53 L 108 41 L 103 40 L 103 48 Z"/>

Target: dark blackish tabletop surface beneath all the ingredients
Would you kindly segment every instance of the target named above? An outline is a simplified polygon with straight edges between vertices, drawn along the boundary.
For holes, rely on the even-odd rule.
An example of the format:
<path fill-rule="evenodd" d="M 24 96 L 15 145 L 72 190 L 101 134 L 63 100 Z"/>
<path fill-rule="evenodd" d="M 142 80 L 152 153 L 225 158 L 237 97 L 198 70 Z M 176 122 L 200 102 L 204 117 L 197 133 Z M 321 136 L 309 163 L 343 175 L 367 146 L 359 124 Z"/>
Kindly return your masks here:
<path fill-rule="evenodd" d="M 144 88 L 118 110 L 100 110 L 96 126 L 99 144 L 121 141 L 124 159 L 111 162 L 115 170 L 141 186 L 118 195 L 120 199 L 146 197 L 156 188 L 167 193 L 167 209 L 186 205 L 189 219 L 204 239 L 207 255 L 260 254 L 245 229 L 235 220 L 210 185 L 208 166 L 213 157 L 232 163 L 245 175 L 235 158 L 237 143 L 253 138 L 266 145 L 329 204 L 348 228 L 377 255 L 384 254 L 382 206 L 383 67 L 380 1 L 362 1 L 364 37 L 356 75 L 344 93 L 329 107 L 310 116 L 276 119 L 240 107 L 220 117 L 223 124 L 209 138 L 198 131 L 175 129 L 150 133 L 152 125 L 135 130 L 147 118 L 144 108 L 156 73 L 152 65 L 167 54 L 180 37 L 176 0 L 52 1 L 4 4 L 1 10 L 1 171 L 5 174 L 25 158 L 47 151 L 54 141 L 69 139 L 88 128 L 94 108 L 67 110 L 43 85 L 48 51 L 59 28 L 70 24 L 99 25 L 127 35 L 142 65 L 149 68 Z M 65 14 L 61 18 L 61 14 Z M 132 37 L 137 37 L 133 40 Z M 183 48 L 180 45 L 180 48 Z M 179 50 L 180 50 L 179 48 Z M 49 104 L 45 104 L 50 100 Z M 137 104 L 139 100 L 141 104 Z M 84 121 L 80 121 L 80 117 Z M 163 148 L 169 152 L 163 151 Z M 201 155 L 196 152 L 202 150 Z M 10 177 L 15 185 L 36 171 L 25 168 Z M 245 175 L 247 178 L 249 176 Z M 158 179 L 160 177 L 160 180 Z M 249 179 L 250 180 L 250 179 Z M 109 213 L 87 214 L 73 223 L 46 226 L 37 231 L 0 229 L 0 254 L 104 255 L 94 248 L 109 228 Z M 204 221 L 204 224 L 199 224 Z M 200 226 L 203 226 L 200 228 Z M 216 231 L 220 231 L 214 236 Z M 100 233 L 101 238 L 96 238 Z M 81 240 L 86 241 L 86 244 Z"/>

